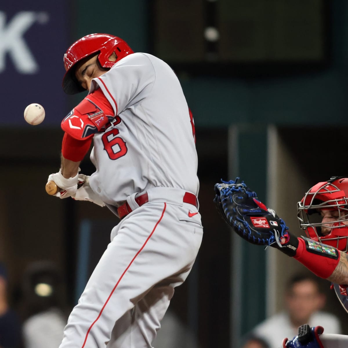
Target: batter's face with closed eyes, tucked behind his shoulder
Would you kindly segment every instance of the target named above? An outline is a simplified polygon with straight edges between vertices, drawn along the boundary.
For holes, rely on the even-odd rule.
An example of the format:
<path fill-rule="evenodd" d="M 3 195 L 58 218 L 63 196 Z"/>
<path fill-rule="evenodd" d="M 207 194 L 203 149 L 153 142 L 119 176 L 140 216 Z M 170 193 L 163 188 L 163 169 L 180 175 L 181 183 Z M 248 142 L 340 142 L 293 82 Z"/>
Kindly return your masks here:
<path fill-rule="evenodd" d="M 104 69 L 97 61 L 98 54 L 88 57 L 87 60 L 82 60 L 76 64 L 75 77 L 78 83 L 89 90 L 92 79 L 103 75 L 108 69 Z"/>

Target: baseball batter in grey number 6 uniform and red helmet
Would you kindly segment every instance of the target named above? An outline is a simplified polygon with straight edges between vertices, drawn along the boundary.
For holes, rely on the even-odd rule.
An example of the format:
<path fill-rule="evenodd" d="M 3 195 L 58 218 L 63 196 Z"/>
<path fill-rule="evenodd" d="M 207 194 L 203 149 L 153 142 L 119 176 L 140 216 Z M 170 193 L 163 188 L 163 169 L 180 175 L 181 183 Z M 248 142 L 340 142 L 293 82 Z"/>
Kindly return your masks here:
<path fill-rule="evenodd" d="M 61 348 L 142 348 L 196 259 L 203 228 L 192 113 L 172 69 L 109 34 L 64 55 L 67 94 L 89 94 L 62 121 L 61 191 L 121 221 L 64 329 Z M 88 152 L 95 172 L 79 164 Z"/>

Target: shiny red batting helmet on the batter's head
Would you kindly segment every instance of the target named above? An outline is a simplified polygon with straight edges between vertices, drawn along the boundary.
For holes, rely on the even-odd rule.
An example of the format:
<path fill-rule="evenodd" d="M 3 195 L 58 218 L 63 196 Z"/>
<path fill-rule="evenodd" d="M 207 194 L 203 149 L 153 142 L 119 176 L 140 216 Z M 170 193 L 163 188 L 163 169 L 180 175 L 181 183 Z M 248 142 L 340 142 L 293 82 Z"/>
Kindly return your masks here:
<path fill-rule="evenodd" d="M 74 75 L 74 65 L 93 53 L 99 52 L 98 62 L 103 68 L 111 68 L 113 64 L 134 53 L 127 42 L 110 34 L 89 34 L 74 42 L 64 54 L 66 73 L 63 78 L 63 90 L 66 94 L 85 91 Z M 110 62 L 109 57 L 115 53 L 116 61 Z"/>

